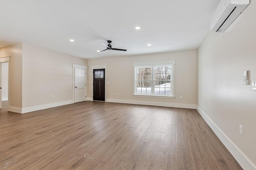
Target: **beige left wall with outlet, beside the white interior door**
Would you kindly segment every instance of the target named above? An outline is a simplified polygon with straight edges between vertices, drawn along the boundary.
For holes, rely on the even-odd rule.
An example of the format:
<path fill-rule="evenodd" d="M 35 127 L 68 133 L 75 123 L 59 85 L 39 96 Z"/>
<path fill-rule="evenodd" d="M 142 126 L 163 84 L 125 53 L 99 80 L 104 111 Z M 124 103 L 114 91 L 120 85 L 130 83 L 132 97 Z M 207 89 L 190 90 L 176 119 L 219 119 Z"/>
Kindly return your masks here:
<path fill-rule="evenodd" d="M 86 59 L 23 43 L 22 107 L 73 100 L 72 63 L 88 65 Z"/>

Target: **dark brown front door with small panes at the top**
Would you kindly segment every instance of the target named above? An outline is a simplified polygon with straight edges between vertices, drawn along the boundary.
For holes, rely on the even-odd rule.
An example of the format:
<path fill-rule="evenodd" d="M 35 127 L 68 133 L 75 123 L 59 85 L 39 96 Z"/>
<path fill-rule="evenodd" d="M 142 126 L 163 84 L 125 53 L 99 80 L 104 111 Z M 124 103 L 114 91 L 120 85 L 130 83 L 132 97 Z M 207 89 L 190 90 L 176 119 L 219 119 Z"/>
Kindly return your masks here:
<path fill-rule="evenodd" d="M 93 70 L 93 100 L 105 101 L 105 69 Z"/>

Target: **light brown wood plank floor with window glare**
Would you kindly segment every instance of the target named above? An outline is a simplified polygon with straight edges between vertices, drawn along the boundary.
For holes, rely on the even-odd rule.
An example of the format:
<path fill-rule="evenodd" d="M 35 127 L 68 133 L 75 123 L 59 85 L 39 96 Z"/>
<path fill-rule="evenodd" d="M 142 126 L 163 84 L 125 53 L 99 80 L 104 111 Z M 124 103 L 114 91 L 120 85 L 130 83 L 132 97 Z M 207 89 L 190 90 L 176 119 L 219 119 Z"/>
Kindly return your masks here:
<path fill-rule="evenodd" d="M 80 102 L 0 109 L 0 170 L 241 170 L 195 109 Z"/>

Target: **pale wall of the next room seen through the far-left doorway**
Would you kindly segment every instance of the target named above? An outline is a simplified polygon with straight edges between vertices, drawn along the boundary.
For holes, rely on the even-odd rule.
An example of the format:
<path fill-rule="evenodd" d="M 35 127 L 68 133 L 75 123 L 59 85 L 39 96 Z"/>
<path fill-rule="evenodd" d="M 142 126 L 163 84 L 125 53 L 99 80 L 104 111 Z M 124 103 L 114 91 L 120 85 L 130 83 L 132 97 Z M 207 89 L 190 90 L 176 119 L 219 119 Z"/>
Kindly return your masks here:
<path fill-rule="evenodd" d="M 8 63 L 2 63 L 2 101 L 8 100 Z"/>

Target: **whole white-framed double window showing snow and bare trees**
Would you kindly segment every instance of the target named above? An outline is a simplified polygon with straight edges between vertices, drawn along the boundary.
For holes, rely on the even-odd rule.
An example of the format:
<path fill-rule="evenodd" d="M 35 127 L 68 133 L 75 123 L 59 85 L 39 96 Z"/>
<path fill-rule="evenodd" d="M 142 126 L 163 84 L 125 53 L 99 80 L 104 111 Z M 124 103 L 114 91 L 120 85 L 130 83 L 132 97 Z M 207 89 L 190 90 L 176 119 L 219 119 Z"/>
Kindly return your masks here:
<path fill-rule="evenodd" d="M 175 61 L 133 63 L 134 96 L 174 98 Z"/>

